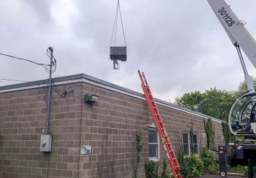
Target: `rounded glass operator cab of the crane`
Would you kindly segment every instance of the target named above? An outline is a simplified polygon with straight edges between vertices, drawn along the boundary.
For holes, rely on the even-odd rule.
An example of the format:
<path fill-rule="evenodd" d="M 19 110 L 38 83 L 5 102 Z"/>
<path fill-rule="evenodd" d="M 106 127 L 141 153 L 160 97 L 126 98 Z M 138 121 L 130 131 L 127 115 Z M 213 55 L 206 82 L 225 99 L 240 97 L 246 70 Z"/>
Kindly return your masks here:
<path fill-rule="evenodd" d="M 228 126 L 233 135 L 256 135 L 256 92 L 237 98 L 228 114 Z"/>

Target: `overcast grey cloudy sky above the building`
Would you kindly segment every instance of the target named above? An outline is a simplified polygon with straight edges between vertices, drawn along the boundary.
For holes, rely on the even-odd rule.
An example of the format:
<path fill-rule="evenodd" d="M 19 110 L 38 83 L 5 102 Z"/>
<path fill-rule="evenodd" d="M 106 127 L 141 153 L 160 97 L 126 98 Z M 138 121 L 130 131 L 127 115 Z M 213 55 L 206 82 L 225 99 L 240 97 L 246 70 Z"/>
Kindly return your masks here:
<path fill-rule="evenodd" d="M 256 1 L 227 0 L 256 38 Z M 49 63 L 53 77 L 85 73 L 143 93 L 138 70 L 144 71 L 155 98 L 173 101 L 192 91 L 216 87 L 236 90 L 244 79 L 236 48 L 207 0 L 120 0 L 127 61 L 113 70 L 109 46 L 117 0 L 1 0 L 0 53 Z M 120 16 L 116 46 L 124 46 Z M 255 68 L 243 54 L 248 73 Z M 42 80 L 41 66 L 0 56 L 0 78 Z M 0 85 L 20 82 L 0 80 Z"/>

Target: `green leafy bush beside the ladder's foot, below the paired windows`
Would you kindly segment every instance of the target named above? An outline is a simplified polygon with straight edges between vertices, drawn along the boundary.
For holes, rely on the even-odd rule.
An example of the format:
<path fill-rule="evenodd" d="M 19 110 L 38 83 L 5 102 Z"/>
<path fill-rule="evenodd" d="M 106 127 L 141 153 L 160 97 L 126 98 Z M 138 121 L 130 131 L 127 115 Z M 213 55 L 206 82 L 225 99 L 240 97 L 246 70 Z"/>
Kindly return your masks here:
<path fill-rule="evenodd" d="M 184 149 L 180 147 L 178 153 L 180 174 L 182 177 L 201 177 L 204 171 L 203 161 L 196 155 L 184 157 Z"/>

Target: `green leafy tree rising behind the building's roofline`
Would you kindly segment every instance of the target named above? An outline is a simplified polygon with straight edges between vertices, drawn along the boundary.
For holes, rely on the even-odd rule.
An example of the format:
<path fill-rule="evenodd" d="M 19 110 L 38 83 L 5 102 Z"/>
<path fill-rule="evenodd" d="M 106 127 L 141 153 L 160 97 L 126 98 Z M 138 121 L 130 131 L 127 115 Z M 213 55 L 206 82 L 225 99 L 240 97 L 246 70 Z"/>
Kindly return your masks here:
<path fill-rule="evenodd" d="M 197 105 L 198 111 L 202 114 L 226 121 L 228 109 L 235 99 L 234 94 L 214 87 L 214 89 L 206 90 L 205 93 L 200 93 L 200 91 L 185 93 L 182 97 L 175 98 L 174 103 L 191 110 Z"/>

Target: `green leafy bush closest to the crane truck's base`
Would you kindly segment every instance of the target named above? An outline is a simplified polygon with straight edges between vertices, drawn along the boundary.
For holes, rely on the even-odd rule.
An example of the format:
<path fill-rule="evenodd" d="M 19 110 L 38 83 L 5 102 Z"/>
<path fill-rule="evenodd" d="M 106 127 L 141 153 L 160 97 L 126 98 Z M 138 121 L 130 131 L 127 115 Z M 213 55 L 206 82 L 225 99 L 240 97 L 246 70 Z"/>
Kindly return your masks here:
<path fill-rule="evenodd" d="M 203 147 L 203 151 L 201 154 L 201 159 L 204 163 L 204 170 L 218 171 L 218 159 L 214 158 L 214 154 L 211 150 L 207 149 L 207 147 Z"/>

